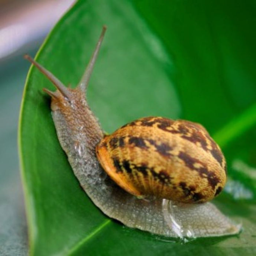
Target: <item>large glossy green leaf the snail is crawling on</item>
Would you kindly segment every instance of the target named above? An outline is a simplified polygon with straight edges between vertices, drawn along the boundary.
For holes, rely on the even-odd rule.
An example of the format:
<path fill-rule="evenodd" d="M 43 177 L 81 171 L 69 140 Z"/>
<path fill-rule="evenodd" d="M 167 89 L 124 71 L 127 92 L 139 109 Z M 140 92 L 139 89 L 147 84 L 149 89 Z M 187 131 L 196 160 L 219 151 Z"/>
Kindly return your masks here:
<path fill-rule="evenodd" d="M 214 202 L 243 223 L 243 232 L 182 244 L 102 214 L 79 186 L 59 145 L 50 99 L 42 92 L 53 85 L 32 67 L 19 125 L 31 255 L 256 251 L 255 9 L 253 1 L 246 7 L 231 0 L 78 1 L 36 56 L 60 81 L 75 86 L 106 24 L 88 92 L 103 128 L 112 132 L 147 115 L 203 124 L 223 145 L 233 181 Z"/>

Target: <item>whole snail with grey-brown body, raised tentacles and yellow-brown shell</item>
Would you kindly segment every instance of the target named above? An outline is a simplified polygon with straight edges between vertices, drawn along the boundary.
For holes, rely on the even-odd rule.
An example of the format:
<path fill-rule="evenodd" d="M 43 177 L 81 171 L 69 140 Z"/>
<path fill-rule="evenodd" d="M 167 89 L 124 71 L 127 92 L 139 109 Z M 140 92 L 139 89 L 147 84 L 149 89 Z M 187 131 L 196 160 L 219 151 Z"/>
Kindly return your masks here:
<path fill-rule="evenodd" d="M 212 203 L 226 182 L 225 158 L 197 123 L 146 117 L 106 135 L 89 108 L 86 88 L 104 38 L 103 27 L 75 89 L 30 56 L 57 88 L 49 91 L 60 145 L 83 190 L 107 216 L 166 237 L 236 234 L 240 227 Z"/>

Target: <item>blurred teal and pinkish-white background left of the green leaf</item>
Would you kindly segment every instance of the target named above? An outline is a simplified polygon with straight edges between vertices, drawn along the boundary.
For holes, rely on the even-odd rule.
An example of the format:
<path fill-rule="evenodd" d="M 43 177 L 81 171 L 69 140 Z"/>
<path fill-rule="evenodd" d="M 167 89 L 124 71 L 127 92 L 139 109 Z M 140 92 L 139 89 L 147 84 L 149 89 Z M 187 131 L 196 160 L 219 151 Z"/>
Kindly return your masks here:
<path fill-rule="evenodd" d="M 0 1 L 0 255 L 27 255 L 27 225 L 17 154 L 20 99 L 29 63 L 72 0 Z M 33 22 L 32 22 L 33 21 Z"/>

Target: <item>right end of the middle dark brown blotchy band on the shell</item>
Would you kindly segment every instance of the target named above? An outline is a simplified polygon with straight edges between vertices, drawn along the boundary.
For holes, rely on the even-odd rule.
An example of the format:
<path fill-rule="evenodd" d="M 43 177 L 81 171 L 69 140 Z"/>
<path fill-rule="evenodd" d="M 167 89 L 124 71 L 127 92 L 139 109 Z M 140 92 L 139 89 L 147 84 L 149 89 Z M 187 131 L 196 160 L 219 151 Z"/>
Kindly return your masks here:
<path fill-rule="evenodd" d="M 178 154 L 178 157 L 181 158 L 187 167 L 189 167 L 191 170 L 197 171 L 202 178 L 207 178 L 209 185 L 215 189 L 216 185 L 220 183 L 220 180 L 218 177 L 216 177 L 215 173 L 212 171 L 209 171 L 205 166 L 196 168 L 194 167 L 195 163 L 199 163 L 203 165 L 199 160 L 196 158 L 191 157 L 190 155 L 186 154 L 185 152 L 180 151 Z"/>

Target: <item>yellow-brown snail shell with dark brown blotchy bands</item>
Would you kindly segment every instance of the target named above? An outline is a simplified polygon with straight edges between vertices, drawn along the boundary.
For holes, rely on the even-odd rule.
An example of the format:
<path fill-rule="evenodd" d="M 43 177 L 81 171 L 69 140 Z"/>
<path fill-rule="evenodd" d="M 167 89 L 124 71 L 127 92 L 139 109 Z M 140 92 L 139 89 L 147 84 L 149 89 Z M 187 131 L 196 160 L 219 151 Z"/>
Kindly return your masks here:
<path fill-rule="evenodd" d="M 106 135 L 96 155 L 108 175 L 137 197 L 203 203 L 226 183 L 225 158 L 200 124 L 146 117 Z"/>

